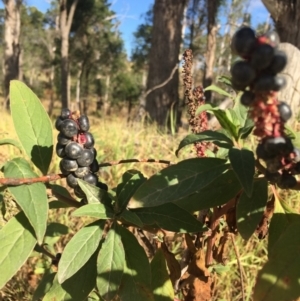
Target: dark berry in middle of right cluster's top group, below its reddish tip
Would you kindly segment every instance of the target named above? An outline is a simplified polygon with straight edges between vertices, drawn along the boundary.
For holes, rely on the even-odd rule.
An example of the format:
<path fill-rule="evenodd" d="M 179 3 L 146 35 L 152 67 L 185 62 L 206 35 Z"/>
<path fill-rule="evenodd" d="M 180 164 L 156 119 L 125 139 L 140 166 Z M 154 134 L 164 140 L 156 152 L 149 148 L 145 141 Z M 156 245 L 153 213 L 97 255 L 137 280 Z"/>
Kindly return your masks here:
<path fill-rule="evenodd" d="M 256 70 L 267 68 L 274 58 L 274 48 L 269 44 L 262 44 L 255 48 L 251 55 L 251 65 Z"/>

